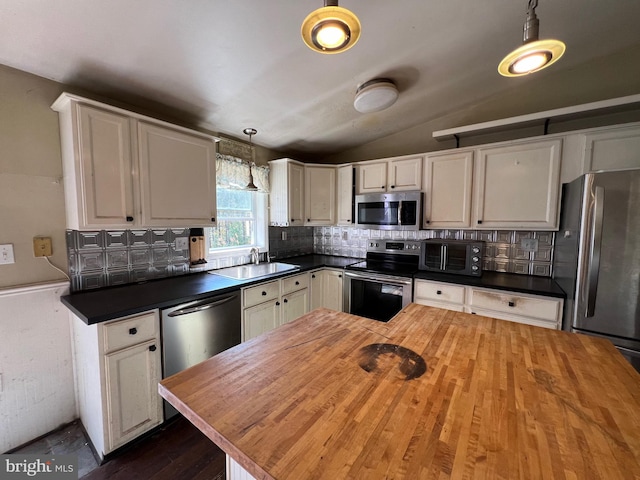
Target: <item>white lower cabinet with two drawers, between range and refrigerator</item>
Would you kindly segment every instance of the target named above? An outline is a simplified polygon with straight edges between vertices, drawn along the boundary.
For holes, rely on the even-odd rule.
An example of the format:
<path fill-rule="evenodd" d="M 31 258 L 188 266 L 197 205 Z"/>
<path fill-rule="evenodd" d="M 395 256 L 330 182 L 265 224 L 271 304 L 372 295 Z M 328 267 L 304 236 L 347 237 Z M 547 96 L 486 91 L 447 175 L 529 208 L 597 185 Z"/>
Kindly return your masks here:
<path fill-rule="evenodd" d="M 559 330 L 564 300 L 542 295 L 415 280 L 414 302 Z"/>

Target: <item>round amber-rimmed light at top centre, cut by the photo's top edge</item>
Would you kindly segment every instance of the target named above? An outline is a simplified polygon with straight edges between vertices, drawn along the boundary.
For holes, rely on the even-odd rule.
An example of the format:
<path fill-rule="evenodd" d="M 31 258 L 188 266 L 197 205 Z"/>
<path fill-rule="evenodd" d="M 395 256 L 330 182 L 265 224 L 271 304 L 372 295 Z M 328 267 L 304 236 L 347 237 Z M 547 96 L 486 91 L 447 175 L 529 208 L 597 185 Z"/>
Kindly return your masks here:
<path fill-rule="evenodd" d="M 300 32 L 311 50 L 340 53 L 356 44 L 360 30 L 358 17 L 346 8 L 339 7 L 337 0 L 325 0 L 324 7 L 307 15 Z"/>

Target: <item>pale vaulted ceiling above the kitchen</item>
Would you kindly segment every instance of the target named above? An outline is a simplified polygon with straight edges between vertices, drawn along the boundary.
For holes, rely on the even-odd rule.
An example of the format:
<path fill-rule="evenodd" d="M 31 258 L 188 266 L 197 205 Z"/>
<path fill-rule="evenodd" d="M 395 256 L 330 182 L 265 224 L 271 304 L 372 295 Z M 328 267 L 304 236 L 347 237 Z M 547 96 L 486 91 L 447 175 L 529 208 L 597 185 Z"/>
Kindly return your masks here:
<path fill-rule="evenodd" d="M 540 37 L 563 40 L 567 52 L 547 70 L 508 79 L 497 64 L 521 43 L 525 0 L 344 0 L 340 6 L 359 17 L 362 36 L 338 55 L 302 42 L 302 20 L 321 6 L 321 0 L 6 0 L 0 64 L 150 104 L 222 135 L 244 138 L 242 130 L 254 127 L 256 144 L 320 158 L 532 82 L 553 88 L 550 79 L 563 72 L 565 80 L 575 71 L 575 82 L 588 81 L 578 67 L 640 45 L 640 1 L 541 0 Z M 615 72 L 636 74 L 637 68 Z M 399 100 L 382 112 L 358 113 L 356 88 L 377 77 L 396 82 Z M 640 82 L 630 93 L 640 93 Z M 575 101 L 581 99 L 550 106 Z"/>

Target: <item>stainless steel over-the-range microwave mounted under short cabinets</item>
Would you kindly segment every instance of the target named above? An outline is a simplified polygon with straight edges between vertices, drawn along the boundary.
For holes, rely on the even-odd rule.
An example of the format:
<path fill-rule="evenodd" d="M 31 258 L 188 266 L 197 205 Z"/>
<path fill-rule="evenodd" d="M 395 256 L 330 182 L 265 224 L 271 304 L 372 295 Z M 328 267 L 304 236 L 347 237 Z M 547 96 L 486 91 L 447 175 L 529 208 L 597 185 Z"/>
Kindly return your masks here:
<path fill-rule="evenodd" d="M 355 196 L 355 225 L 379 230 L 419 230 L 422 192 Z"/>

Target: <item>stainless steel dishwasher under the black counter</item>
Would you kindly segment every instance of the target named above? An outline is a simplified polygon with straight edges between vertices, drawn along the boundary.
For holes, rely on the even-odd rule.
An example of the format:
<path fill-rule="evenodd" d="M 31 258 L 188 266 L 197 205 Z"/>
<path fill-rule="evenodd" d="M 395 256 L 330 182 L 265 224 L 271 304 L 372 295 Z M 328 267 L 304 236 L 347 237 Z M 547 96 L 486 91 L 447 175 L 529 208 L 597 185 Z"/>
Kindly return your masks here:
<path fill-rule="evenodd" d="M 162 378 L 240 343 L 240 292 L 207 297 L 162 310 Z M 175 408 L 164 402 L 165 420 Z"/>

